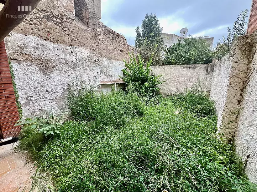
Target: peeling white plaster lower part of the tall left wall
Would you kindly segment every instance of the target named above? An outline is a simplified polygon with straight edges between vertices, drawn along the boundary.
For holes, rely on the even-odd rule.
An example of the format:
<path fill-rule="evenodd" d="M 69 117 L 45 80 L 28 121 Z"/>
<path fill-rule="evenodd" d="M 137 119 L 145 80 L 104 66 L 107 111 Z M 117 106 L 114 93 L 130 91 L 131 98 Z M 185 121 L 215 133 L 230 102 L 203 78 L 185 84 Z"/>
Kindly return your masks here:
<path fill-rule="evenodd" d="M 67 112 L 69 87 L 80 81 L 100 86 L 114 81 L 124 63 L 92 54 L 83 47 L 66 46 L 34 36 L 11 33 L 5 38 L 13 64 L 23 116 Z"/>

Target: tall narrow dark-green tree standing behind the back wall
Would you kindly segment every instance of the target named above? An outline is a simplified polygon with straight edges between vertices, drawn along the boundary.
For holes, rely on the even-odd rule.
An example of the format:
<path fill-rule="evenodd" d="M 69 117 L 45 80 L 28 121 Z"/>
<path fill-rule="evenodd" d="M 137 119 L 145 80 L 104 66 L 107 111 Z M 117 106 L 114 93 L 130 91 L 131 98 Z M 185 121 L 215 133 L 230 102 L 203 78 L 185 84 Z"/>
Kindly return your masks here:
<path fill-rule="evenodd" d="M 161 37 L 162 27 L 156 14 L 145 15 L 141 25 L 136 28 L 135 47 L 145 62 L 152 58 L 153 65 L 160 65 L 162 62 L 163 39 Z"/>

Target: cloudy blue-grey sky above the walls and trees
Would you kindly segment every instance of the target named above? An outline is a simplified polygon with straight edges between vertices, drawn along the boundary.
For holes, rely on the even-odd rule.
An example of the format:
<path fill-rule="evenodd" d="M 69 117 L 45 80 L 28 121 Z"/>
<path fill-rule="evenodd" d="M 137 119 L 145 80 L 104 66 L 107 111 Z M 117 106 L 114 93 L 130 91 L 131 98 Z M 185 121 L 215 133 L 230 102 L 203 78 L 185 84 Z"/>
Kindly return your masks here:
<path fill-rule="evenodd" d="M 214 45 L 226 36 L 240 11 L 251 8 L 252 0 L 101 0 L 102 21 L 134 45 L 135 28 L 144 16 L 156 13 L 163 33 L 214 37 Z"/>

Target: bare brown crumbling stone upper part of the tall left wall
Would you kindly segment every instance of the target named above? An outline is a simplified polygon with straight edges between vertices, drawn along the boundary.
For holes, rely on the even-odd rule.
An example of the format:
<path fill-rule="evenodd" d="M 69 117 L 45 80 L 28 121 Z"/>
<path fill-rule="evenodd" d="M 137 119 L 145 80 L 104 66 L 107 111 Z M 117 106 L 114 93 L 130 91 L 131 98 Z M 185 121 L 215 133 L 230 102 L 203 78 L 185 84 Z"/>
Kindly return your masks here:
<path fill-rule="evenodd" d="M 81 17 L 75 17 L 79 13 L 76 14 L 74 6 L 88 8 L 85 20 L 83 13 Z M 75 4 L 74 0 L 42 0 L 13 32 L 66 46 L 84 47 L 101 57 L 122 61 L 128 57 L 128 52 L 135 50 L 128 45 L 125 37 L 99 21 L 101 14 L 98 9 L 99 0 L 75 0 Z"/>

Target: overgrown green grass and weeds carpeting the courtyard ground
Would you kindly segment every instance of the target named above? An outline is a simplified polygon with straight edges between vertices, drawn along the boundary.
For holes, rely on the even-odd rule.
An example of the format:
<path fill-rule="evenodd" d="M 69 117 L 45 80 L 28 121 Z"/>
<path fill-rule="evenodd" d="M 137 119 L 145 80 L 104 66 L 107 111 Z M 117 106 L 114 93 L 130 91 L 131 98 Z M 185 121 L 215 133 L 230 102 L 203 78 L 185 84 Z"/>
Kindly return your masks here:
<path fill-rule="evenodd" d="M 145 106 L 144 115 L 127 116 L 120 126 L 91 116 L 90 121 L 67 121 L 60 134 L 41 141 L 41 134 L 26 127 L 19 149 L 35 160 L 35 181 L 50 176 L 52 187 L 45 186 L 50 191 L 256 191 L 233 146 L 218 139 L 213 108 L 204 109 L 210 106 L 208 99 L 188 92 Z"/>

